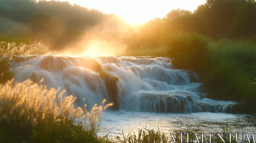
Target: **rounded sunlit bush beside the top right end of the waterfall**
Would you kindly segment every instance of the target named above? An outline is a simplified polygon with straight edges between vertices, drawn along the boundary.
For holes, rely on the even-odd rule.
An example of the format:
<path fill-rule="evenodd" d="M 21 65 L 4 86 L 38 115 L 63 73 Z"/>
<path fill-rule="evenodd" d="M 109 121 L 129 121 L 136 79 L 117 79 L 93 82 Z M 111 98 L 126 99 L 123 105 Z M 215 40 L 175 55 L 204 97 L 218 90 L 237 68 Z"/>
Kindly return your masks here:
<path fill-rule="evenodd" d="M 207 68 L 208 38 L 196 33 L 179 33 L 163 35 L 163 43 L 167 47 L 167 55 L 175 69 L 187 69 L 203 73 Z M 207 61 L 207 62 L 206 62 Z"/>

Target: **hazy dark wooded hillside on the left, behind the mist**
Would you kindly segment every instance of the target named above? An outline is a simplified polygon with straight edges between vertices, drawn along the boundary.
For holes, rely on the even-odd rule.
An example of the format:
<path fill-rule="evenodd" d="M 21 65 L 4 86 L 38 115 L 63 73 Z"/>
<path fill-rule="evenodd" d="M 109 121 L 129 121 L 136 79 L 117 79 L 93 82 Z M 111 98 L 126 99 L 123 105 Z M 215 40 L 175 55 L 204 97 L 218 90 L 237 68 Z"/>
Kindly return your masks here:
<path fill-rule="evenodd" d="M 48 47 L 57 50 L 80 40 L 84 32 L 108 19 L 109 15 L 55 0 L 1 0 L 0 17 L 14 23 L 10 27 L 5 26 L 5 19 L 4 25 L 0 22 L 0 27 L 4 26 L 5 32 L 29 33 L 30 39 L 41 40 Z M 25 26 L 19 26 L 21 23 Z M 24 27 L 28 27 L 27 31 L 23 31 Z"/>

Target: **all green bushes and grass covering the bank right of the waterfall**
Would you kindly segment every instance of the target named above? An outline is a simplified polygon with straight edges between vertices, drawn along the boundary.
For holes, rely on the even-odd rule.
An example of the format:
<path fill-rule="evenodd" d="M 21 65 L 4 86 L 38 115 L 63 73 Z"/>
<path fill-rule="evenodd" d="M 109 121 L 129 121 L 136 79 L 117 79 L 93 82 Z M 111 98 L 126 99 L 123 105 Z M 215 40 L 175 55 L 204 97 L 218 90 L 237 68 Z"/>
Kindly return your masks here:
<path fill-rule="evenodd" d="M 208 98 L 244 101 L 250 108 L 256 105 L 256 45 L 253 37 L 214 41 L 195 33 L 163 31 L 162 42 L 167 49 L 153 53 L 148 52 L 149 49 L 140 49 L 127 56 L 156 56 L 156 53 L 157 56 L 168 56 L 173 68 L 200 74 Z"/>

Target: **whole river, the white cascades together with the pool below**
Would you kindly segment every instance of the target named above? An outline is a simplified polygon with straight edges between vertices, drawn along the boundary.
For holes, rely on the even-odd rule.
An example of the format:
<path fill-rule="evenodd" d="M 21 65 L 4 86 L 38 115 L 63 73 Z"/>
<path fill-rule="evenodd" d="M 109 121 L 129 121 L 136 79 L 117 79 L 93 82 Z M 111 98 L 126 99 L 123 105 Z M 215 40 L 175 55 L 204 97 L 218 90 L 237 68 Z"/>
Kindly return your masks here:
<path fill-rule="evenodd" d="M 232 114 L 233 101 L 206 98 L 198 75 L 172 68 L 162 57 L 17 56 L 18 66 L 30 65 L 16 76 L 74 95 L 75 107 L 90 109 L 103 99 L 114 106 L 102 115 L 101 132 L 111 136 L 147 127 L 161 131 L 255 132 L 256 115 Z M 13 65 L 14 65 L 13 64 Z M 84 100 L 85 98 L 85 100 Z"/>

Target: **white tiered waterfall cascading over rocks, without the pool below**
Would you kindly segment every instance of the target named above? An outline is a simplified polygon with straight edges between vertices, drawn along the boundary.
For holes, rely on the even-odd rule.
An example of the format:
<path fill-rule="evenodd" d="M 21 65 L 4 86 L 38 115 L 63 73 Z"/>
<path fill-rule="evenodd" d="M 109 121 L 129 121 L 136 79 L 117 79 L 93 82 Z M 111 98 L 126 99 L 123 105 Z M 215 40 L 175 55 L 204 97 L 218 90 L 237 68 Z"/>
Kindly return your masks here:
<path fill-rule="evenodd" d="M 172 68 L 168 58 L 16 56 L 20 71 L 16 80 L 26 79 L 47 88 L 66 90 L 76 96 L 76 105 L 92 107 L 106 99 L 113 110 L 135 112 L 224 112 L 236 102 L 205 98 L 196 73 Z M 85 99 L 85 100 L 84 100 Z"/>

